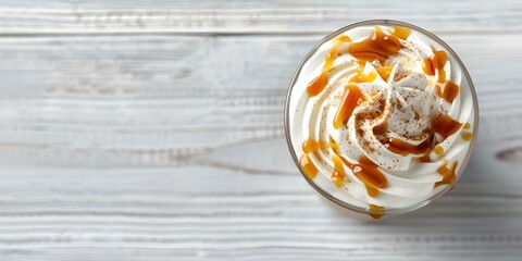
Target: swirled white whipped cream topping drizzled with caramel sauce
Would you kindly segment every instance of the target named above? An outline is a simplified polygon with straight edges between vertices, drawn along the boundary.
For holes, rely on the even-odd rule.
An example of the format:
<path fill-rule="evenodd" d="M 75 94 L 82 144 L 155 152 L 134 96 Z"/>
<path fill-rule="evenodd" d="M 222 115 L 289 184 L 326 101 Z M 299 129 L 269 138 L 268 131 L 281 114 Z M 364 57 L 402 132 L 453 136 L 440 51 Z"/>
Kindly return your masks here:
<path fill-rule="evenodd" d="M 303 173 L 378 219 L 452 186 L 474 101 L 453 57 L 409 28 L 352 28 L 319 47 L 289 96 Z"/>

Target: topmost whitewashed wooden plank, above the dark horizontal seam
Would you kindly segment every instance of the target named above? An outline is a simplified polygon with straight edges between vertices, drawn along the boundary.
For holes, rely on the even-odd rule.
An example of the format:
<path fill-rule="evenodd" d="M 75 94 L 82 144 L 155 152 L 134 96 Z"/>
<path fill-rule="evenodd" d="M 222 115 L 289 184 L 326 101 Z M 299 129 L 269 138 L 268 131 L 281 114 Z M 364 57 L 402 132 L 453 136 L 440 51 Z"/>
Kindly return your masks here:
<path fill-rule="evenodd" d="M 1 34 L 327 33 L 371 18 L 394 18 L 436 33 L 521 32 L 515 0 L 407 1 L 2 1 Z"/>

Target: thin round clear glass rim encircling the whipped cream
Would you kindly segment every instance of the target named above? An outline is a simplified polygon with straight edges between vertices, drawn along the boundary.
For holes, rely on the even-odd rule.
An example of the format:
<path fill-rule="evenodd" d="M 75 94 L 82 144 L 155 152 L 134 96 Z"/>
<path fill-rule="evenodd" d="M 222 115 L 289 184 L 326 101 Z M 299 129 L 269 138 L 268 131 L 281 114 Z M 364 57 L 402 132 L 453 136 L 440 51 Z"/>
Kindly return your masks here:
<path fill-rule="evenodd" d="M 366 21 L 361 21 L 361 22 L 357 22 L 357 23 L 346 25 L 346 26 L 340 27 L 339 29 L 336 29 L 335 32 L 326 35 L 324 38 L 322 38 L 320 41 L 318 41 L 312 47 L 312 49 L 310 49 L 310 51 L 302 59 L 302 61 L 300 62 L 299 66 L 296 70 L 296 72 L 294 73 L 294 76 L 291 78 L 291 82 L 290 82 L 290 85 L 288 87 L 286 98 L 285 98 L 285 110 L 284 110 L 285 138 L 286 138 L 286 144 L 288 146 L 288 149 L 290 151 L 291 158 L 294 160 L 294 163 L 297 165 L 299 172 L 301 173 L 301 176 L 304 177 L 304 179 L 308 182 L 308 184 L 311 187 L 313 187 L 315 189 L 315 191 L 318 191 L 320 195 L 322 195 L 324 198 L 326 198 L 331 202 L 334 202 L 335 204 L 337 204 L 337 206 L 339 206 L 344 209 L 351 210 L 351 211 L 355 211 L 355 212 L 358 212 L 358 213 L 361 213 L 361 214 L 368 214 L 368 209 L 366 208 L 360 208 L 360 207 L 349 204 L 349 203 L 347 203 L 343 200 L 337 199 L 336 197 L 331 195 L 328 191 L 326 191 L 325 189 L 323 189 L 319 185 L 316 185 L 312 179 L 310 179 L 304 174 L 304 172 L 303 172 L 303 170 L 302 170 L 302 167 L 299 163 L 299 158 L 297 157 L 297 153 L 294 150 L 294 146 L 293 146 L 293 142 L 291 142 L 291 135 L 290 135 L 290 129 L 289 129 L 289 127 L 290 127 L 289 126 L 290 125 L 289 124 L 289 109 L 290 109 L 289 108 L 289 103 L 290 103 L 289 101 L 290 101 L 291 91 L 294 90 L 294 86 L 296 84 L 296 80 L 301 73 L 302 66 L 310 60 L 310 58 L 319 50 L 319 48 L 322 45 L 324 45 L 326 41 L 333 39 L 334 37 L 336 37 L 337 35 L 339 35 L 339 34 L 341 34 L 346 30 L 349 30 L 349 29 L 352 29 L 352 28 L 356 28 L 356 27 L 360 27 L 360 26 L 369 26 L 369 25 L 408 27 L 408 28 L 414 29 L 414 30 L 417 30 L 421 34 L 424 34 L 426 37 L 431 38 L 432 40 L 436 41 L 438 45 L 443 46 L 446 49 L 446 51 L 448 51 L 455 58 L 455 60 L 457 61 L 457 63 L 461 67 L 461 71 L 462 71 L 462 73 L 463 73 L 463 75 L 464 75 L 464 77 L 468 82 L 468 85 L 470 86 L 470 90 L 471 90 L 471 95 L 472 95 L 472 99 L 473 99 L 473 110 L 474 110 L 474 114 L 475 114 L 474 115 L 474 124 L 473 124 L 474 125 L 473 126 L 474 138 L 471 140 L 470 149 L 468 150 L 465 159 L 462 162 L 462 166 L 460 167 L 460 170 L 456 174 L 456 181 L 455 181 L 453 185 L 446 186 L 439 192 L 433 195 L 432 197 L 430 197 L 430 198 L 427 198 L 427 199 L 425 199 L 425 200 L 423 200 L 419 203 L 415 203 L 415 204 L 412 204 L 412 206 L 409 206 L 409 207 L 405 207 L 405 208 L 395 208 L 395 209 L 385 209 L 384 210 L 385 215 L 387 215 L 387 214 L 402 214 L 402 213 L 411 212 L 413 210 L 420 209 L 420 208 L 428 204 L 430 202 L 436 200 L 437 198 L 439 198 L 440 196 L 446 194 L 446 191 L 448 191 L 451 187 L 455 186 L 455 184 L 457 184 L 457 182 L 462 176 L 463 172 L 468 169 L 468 164 L 470 163 L 470 158 L 471 158 L 471 154 L 473 152 L 475 140 L 476 140 L 476 137 L 477 137 L 477 132 L 478 132 L 478 121 L 480 121 L 478 100 L 476 98 L 475 87 L 474 87 L 473 82 L 471 79 L 470 73 L 468 72 L 463 62 L 460 60 L 459 55 L 457 55 L 457 53 L 453 51 L 453 49 L 451 49 L 445 41 L 443 41 L 440 38 L 438 38 L 433 33 L 431 33 L 431 32 L 428 32 L 428 30 L 426 30 L 422 27 L 419 27 L 417 25 L 406 23 L 406 22 L 401 22 L 401 21 L 396 21 L 396 20 L 366 20 Z"/>

